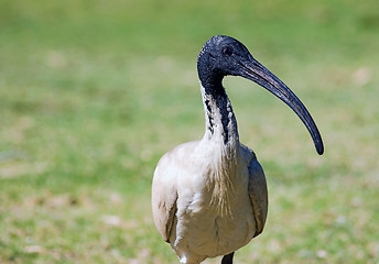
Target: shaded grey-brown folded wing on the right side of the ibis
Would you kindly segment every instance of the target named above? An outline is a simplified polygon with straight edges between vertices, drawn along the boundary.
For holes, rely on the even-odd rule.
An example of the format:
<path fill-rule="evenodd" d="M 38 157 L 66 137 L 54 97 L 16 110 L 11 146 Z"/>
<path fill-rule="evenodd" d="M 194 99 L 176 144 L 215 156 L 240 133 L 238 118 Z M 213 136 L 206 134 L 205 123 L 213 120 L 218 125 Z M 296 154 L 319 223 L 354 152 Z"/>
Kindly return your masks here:
<path fill-rule="evenodd" d="M 255 237 L 263 231 L 268 211 L 268 191 L 263 169 L 253 155 L 249 164 L 249 196 L 256 218 Z"/>

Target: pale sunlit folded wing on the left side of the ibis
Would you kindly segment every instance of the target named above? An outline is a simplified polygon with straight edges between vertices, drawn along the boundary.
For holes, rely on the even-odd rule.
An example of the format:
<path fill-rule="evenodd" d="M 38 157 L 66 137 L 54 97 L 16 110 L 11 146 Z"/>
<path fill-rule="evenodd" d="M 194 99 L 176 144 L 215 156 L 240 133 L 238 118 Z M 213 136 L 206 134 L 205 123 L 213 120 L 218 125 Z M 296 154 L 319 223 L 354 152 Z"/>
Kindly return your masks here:
<path fill-rule="evenodd" d="M 159 162 L 152 184 L 152 210 L 158 231 L 169 242 L 176 212 L 177 189 L 170 153 Z"/>

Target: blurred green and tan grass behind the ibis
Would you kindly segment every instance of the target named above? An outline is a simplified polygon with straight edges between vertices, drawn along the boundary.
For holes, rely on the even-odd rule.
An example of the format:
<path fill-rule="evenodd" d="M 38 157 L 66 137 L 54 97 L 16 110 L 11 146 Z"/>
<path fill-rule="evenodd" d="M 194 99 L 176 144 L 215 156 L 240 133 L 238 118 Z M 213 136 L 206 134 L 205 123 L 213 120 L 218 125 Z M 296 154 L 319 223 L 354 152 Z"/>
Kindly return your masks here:
<path fill-rule="evenodd" d="M 325 143 L 318 156 L 286 106 L 226 78 L 270 195 L 236 262 L 379 263 L 377 0 L 0 4 L 0 263 L 177 263 L 151 179 L 203 136 L 196 58 L 215 34 L 288 84 Z"/>

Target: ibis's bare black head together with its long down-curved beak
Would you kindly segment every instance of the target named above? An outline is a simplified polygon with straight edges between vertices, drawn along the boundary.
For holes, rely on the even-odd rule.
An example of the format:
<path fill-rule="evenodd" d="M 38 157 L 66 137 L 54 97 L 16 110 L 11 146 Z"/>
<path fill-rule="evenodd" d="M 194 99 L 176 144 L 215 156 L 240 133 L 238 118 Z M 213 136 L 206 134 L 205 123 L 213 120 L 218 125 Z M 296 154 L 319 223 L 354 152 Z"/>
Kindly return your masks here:
<path fill-rule="evenodd" d="M 310 131 L 317 153 L 323 154 L 324 144 L 321 134 L 304 105 L 236 38 L 225 35 L 210 37 L 198 55 L 197 70 L 202 86 L 208 90 L 220 87 L 223 78 L 227 75 L 241 76 L 266 88 L 299 116 Z"/>

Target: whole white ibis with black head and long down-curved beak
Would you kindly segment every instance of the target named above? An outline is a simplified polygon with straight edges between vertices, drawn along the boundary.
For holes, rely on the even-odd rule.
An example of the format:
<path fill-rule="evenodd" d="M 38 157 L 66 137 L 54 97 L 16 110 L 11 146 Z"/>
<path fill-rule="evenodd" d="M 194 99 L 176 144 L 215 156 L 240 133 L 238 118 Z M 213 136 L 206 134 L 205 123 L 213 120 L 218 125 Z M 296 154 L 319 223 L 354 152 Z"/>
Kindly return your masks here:
<path fill-rule="evenodd" d="M 152 212 L 163 240 L 182 264 L 234 254 L 259 235 L 268 215 L 268 188 L 252 150 L 239 141 L 236 116 L 223 86 L 240 76 L 285 102 L 307 128 L 320 155 L 320 131 L 301 100 L 234 37 L 215 35 L 203 46 L 197 72 L 205 111 L 202 140 L 164 154 L 152 179 Z"/>

